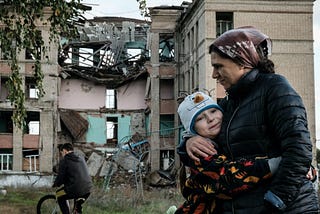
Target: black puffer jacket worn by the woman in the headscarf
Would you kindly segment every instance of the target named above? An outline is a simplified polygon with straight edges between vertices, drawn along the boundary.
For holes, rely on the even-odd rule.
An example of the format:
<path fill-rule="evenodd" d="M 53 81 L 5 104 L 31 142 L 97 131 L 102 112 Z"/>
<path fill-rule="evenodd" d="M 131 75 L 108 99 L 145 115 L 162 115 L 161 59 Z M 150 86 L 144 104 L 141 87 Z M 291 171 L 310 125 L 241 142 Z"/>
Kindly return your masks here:
<path fill-rule="evenodd" d="M 220 202 L 222 213 L 277 213 L 264 201 L 268 190 L 286 204 L 284 213 L 318 213 L 315 190 L 306 178 L 312 160 L 306 111 L 287 80 L 252 70 L 228 90 L 220 105 L 224 116 L 217 142 L 230 159 L 282 156 L 272 180 Z M 187 164 L 183 145 L 178 152 Z"/>

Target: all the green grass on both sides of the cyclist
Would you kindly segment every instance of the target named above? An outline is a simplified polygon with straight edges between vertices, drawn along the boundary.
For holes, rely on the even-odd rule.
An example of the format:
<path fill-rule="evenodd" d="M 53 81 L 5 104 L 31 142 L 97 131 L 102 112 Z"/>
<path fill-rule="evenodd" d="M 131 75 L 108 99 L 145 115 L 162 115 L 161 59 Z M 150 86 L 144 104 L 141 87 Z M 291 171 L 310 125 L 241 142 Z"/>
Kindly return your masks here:
<path fill-rule="evenodd" d="M 54 189 L 18 188 L 7 189 L 0 195 L 0 213 L 34 214 L 38 200 Z M 108 191 L 95 186 L 93 193 L 83 205 L 86 214 L 165 214 L 172 206 L 183 202 L 175 187 L 151 188 L 137 192 L 129 185 L 121 185 Z"/>

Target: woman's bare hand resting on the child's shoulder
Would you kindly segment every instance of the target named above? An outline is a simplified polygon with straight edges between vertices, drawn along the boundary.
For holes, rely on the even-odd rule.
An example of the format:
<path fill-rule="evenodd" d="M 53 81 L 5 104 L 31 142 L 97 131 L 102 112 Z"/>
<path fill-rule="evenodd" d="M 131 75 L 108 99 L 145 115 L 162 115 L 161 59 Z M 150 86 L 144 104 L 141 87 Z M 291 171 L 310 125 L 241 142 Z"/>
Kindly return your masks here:
<path fill-rule="evenodd" d="M 208 157 L 217 154 L 217 150 L 208 138 L 199 135 L 189 138 L 186 141 L 186 150 L 192 160 L 200 161 L 198 157 Z"/>

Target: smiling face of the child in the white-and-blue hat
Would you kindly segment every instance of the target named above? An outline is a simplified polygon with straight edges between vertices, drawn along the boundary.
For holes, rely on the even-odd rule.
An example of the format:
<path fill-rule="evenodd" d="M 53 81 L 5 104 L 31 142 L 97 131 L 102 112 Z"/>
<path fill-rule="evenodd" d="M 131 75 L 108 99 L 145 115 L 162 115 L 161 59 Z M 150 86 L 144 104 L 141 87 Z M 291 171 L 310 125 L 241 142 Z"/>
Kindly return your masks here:
<path fill-rule="evenodd" d="M 202 137 L 214 138 L 221 129 L 222 112 L 210 108 L 201 112 L 196 118 L 194 130 Z"/>

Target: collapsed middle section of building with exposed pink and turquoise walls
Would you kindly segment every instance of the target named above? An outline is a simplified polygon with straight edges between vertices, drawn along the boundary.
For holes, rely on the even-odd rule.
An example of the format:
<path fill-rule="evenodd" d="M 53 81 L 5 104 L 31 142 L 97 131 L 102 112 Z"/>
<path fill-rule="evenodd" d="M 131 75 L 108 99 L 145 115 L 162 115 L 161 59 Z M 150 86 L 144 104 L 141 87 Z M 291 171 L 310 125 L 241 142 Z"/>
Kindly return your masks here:
<path fill-rule="evenodd" d="M 73 142 L 91 143 L 107 155 L 129 142 L 146 142 L 151 147 L 148 165 L 157 170 L 172 165 L 175 154 L 174 28 L 157 42 L 164 73 L 158 89 L 161 100 L 155 100 L 150 26 L 142 20 L 97 17 L 79 27 L 79 41 L 68 41 L 60 57 L 59 113 L 65 115 L 60 136 L 64 130 L 87 129 L 73 136 Z M 80 128 L 70 112 L 88 124 Z"/>

